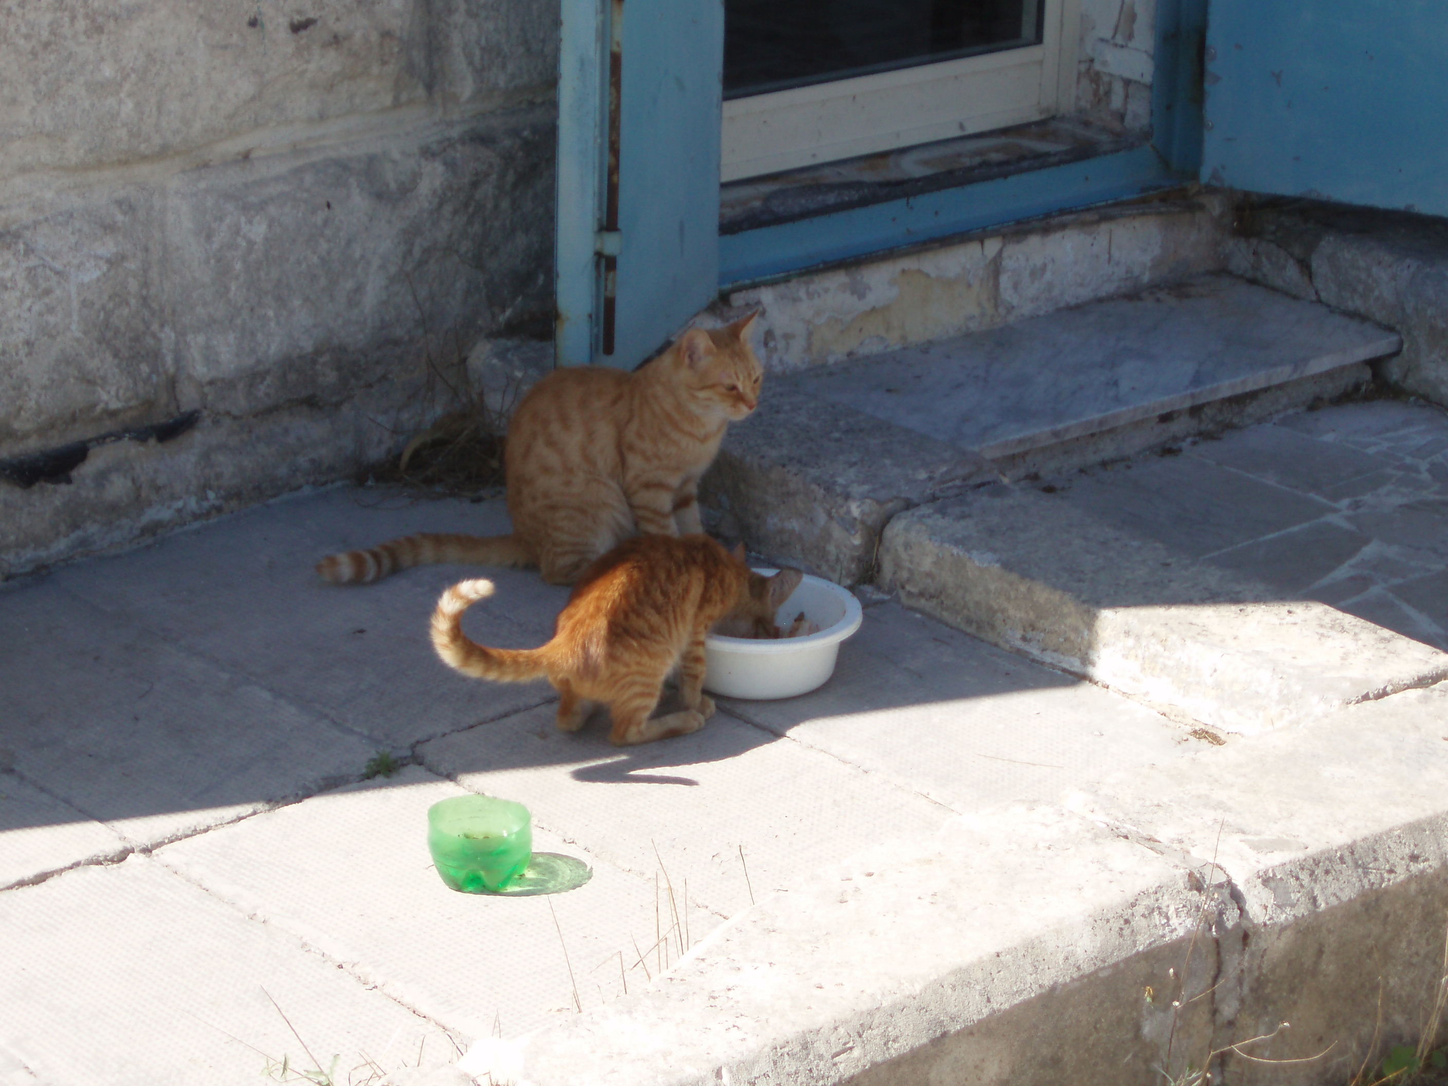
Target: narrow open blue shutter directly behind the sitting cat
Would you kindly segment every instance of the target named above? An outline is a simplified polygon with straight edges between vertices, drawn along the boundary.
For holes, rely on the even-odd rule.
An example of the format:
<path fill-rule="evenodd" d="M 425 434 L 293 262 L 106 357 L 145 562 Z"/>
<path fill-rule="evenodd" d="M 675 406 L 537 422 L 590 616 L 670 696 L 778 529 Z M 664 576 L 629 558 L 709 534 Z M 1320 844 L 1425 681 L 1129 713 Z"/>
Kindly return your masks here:
<path fill-rule="evenodd" d="M 723 0 L 563 0 L 556 355 L 631 369 L 718 291 Z"/>

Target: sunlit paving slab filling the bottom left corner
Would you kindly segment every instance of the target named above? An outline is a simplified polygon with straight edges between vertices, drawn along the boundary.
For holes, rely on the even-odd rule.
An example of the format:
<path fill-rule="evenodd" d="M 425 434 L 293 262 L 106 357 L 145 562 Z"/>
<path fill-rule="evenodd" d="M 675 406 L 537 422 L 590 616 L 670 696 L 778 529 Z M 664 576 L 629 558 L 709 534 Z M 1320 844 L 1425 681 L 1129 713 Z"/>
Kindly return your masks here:
<path fill-rule="evenodd" d="M 452 1050 L 436 1024 L 145 856 L 6 891 L 0 931 L 0 1044 L 46 1086 L 251 1086 L 266 1057 L 313 1067 L 277 1006 L 323 1070 L 340 1057 L 342 1082 L 363 1056 L 391 1069 L 420 1045 Z"/>

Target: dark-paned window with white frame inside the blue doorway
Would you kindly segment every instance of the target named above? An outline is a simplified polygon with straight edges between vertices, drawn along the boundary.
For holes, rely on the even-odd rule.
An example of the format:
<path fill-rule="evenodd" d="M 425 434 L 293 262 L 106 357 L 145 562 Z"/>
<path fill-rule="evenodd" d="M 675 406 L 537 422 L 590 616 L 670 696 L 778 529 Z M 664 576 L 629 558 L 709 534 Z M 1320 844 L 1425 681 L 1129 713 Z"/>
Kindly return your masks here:
<path fill-rule="evenodd" d="M 721 180 L 1069 109 L 1077 0 L 725 0 Z"/>

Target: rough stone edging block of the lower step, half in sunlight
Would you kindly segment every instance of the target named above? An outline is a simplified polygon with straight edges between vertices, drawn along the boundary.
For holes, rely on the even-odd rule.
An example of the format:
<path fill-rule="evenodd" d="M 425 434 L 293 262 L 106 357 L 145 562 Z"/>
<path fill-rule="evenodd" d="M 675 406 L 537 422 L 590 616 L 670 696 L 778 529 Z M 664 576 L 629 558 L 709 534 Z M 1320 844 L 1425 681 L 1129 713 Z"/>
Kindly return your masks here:
<path fill-rule="evenodd" d="M 1031 488 L 895 517 L 879 581 L 988 641 L 1239 734 L 1448 678 L 1448 653 Z"/>

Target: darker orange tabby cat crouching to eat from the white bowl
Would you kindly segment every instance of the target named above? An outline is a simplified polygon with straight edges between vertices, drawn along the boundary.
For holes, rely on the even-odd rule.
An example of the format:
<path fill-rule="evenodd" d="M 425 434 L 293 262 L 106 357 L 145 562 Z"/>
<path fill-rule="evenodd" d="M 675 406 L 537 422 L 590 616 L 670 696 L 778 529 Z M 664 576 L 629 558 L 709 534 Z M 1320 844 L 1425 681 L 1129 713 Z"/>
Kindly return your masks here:
<path fill-rule="evenodd" d="M 489 649 L 462 631 L 462 615 L 492 595 L 491 581 L 463 581 L 433 611 L 433 647 L 443 662 L 479 679 L 547 678 L 559 692 L 557 725 L 578 731 L 595 704 L 608 705 L 618 746 L 686 736 L 704 727 L 714 702 L 704 694 L 704 636 L 737 615 L 773 624 L 799 586 L 798 569 L 760 576 L 744 547 L 727 552 L 708 536 L 637 536 L 594 562 L 540 649 Z M 663 681 L 679 668 L 683 708 L 650 720 Z"/>

